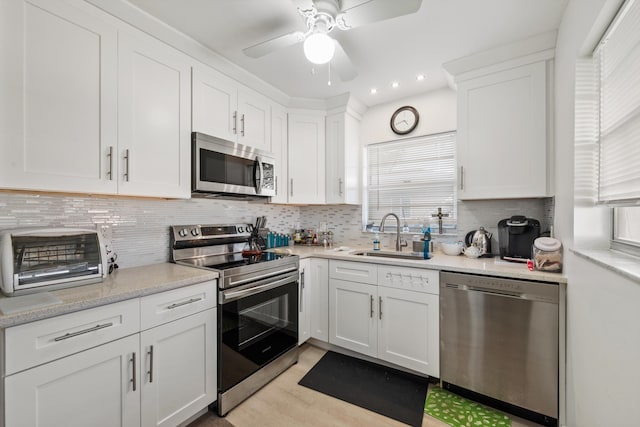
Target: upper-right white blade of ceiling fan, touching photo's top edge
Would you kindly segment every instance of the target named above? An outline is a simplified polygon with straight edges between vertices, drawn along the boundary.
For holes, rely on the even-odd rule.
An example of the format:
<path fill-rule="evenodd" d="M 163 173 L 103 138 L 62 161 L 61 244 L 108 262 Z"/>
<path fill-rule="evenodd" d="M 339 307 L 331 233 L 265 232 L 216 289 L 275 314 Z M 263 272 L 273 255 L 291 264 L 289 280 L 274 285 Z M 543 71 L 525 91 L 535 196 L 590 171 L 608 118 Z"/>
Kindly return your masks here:
<path fill-rule="evenodd" d="M 372 22 L 384 21 L 397 16 L 416 13 L 422 0 L 369 0 L 350 9 L 345 9 L 337 17 L 342 29 L 356 28 Z"/>

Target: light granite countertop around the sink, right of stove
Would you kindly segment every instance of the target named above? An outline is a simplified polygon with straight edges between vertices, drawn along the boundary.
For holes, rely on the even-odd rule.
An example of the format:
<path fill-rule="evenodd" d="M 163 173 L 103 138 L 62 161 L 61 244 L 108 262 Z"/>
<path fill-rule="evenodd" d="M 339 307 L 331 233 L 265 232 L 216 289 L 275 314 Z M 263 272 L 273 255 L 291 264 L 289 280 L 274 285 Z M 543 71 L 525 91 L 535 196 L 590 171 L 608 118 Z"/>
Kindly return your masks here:
<path fill-rule="evenodd" d="M 543 282 L 567 283 L 567 278 L 560 273 L 544 271 L 529 271 L 525 263 L 514 263 L 494 258 L 468 258 L 464 255 L 450 256 L 439 250 L 433 253 L 428 260 L 397 259 L 372 256 L 354 255 L 355 252 L 370 251 L 371 248 L 347 247 L 325 249 L 318 246 L 288 246 L 281 249 L 290 249 L 294 255 L 300 258 L 328 258 L 344 261 L 360 261 L 374 264 L 396 265 L 402 267 L 426 268 L 430 270 L 453 271 L 458 273 L 473 273 L 486 276 L 499 276 L 513 279 L 538 280 Z M 342 250 L 340 250 L 342 249 Z M 405 254 L 411 252 L 406 250 Z"/>

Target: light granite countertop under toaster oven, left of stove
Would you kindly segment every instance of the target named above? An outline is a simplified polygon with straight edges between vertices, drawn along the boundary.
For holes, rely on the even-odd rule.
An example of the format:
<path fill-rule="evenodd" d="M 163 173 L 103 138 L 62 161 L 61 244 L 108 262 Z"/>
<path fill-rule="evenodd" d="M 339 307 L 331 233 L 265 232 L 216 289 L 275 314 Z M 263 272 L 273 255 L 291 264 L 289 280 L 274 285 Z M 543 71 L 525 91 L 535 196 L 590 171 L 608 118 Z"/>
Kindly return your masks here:
<path fill-rule="evenodd" d="M 10 314 L 0 314 L 0 328 L 155 294 L 217 278 L 218 273 L 214 271 L 172 263 L 161 263 L 118 269 L 100 283 L 42 293 L 48 295 L 31 294 L 34 296 L 46 296 L 50 301 L 55 301 L 46 305 L 29 306 L 28 303 L 25 304 L 24 301 L 27 297 L 30 297 L 29 295 L 24 297 L 6 297 L 2 295 L 0 296 L 0 301 L 4 306 L 11 308 L 12 305 L 18 307 L 22 304 L 26 308 L 21 311 L 10 312 Z"/>

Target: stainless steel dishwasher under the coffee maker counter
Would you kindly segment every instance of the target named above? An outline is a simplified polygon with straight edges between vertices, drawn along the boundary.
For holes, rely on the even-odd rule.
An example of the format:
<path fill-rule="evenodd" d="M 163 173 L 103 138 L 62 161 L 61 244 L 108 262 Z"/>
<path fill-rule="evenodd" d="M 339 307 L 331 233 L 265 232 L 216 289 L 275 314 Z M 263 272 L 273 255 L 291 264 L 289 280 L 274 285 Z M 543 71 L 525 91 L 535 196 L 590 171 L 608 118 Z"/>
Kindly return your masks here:
<path fill-rule="evenodd" d="M 544 425 L 558 419 L 554 283 L 440 274 L 440 379 Z"/>

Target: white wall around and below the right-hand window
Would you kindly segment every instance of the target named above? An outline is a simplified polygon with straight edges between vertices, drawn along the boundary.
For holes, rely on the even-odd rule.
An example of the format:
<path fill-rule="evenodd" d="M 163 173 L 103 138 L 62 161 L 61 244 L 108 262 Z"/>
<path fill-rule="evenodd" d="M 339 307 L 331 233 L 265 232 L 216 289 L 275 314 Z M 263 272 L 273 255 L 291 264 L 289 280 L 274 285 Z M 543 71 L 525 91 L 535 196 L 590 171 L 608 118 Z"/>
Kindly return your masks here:
<path fill-rule="evenodd" d="M 574 209 L 574 84 L 576 58 L 619 0 L 570 0 L 556 47 L 556 235 L 565 244 L 567 286 L 567 425 L 640 424 L 640 284 L 593 265 L 570 250 L 600 242 L 601 210 Z"/>

